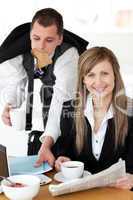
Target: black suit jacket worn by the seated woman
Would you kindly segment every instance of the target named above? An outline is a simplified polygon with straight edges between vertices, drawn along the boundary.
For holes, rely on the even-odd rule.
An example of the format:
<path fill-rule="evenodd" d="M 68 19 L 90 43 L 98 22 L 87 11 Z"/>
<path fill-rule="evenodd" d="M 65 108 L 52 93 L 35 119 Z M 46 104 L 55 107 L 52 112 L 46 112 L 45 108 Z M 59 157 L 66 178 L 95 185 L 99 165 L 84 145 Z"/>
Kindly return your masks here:
<path fill-rule="evenodd" d="M 124 145 L 119 145 L 115 148 L 115 126 L 114 120 L 108 120 L 105 140 L 99 160 L 96 160 L 92 153 L 92 131 L 87 118 L 87 137 L 85 138 L 85 145 L 80 154 L 76 151 L 75 144 L 75 125 L 72 102 L 66 102 L 63 106 L 61 116 L 61 144 L 62 152 L 60 155 L 68 156 L 72 160 L 80 160 L 85 164 L 85 169 L 91 173 L 97 173 L 116 163 L 119 158 L 126 161 L 126 171 L 133 173 L 133 117 L 128 118 L 128 134 Z"/>

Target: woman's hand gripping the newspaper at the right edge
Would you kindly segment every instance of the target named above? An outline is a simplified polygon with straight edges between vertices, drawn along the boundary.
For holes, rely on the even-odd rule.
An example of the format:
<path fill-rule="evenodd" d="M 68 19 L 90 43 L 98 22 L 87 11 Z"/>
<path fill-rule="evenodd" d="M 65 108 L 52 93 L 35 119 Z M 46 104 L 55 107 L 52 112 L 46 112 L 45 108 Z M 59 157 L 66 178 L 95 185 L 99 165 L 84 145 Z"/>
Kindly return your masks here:
<path fill-rule="evenodd" d="M 113 187 L 120 189 L 131 189 L 133 187 L 133 175 L 127 174 L 126 176 L 118 179 Z"/>

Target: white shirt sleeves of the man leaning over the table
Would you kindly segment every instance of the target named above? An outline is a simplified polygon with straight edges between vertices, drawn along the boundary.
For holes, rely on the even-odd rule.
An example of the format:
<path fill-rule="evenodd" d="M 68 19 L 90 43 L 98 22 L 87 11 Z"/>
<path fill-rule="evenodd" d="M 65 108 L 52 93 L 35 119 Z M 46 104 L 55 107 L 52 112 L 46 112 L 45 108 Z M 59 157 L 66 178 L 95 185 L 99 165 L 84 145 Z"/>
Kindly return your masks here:
<path fill-rule="evenodd" d="M 75 98 L 78 58 L 77 49 L 72 47 L 65 51 L 55 62 L 54 75 L 56 81 L 53 87 L 48 121 L 44 134 L 40 138 L 42 142 L 46 135 L 51 136 L 54 142 L 60 135 L 60 115 L 63 102 Z M 20 107 L 25 99 L 27 73 L 22 62 L 23 58 L 20 55 L 1 64 L 3 65 L 1 66 L 2 69 L 7 72 L 4 77 L 7 84 L 1 92 L 6 97 L 3 103 L 10 103 L 16 108 Z M 40 120 L 42 121 L 42 118 Z"/>

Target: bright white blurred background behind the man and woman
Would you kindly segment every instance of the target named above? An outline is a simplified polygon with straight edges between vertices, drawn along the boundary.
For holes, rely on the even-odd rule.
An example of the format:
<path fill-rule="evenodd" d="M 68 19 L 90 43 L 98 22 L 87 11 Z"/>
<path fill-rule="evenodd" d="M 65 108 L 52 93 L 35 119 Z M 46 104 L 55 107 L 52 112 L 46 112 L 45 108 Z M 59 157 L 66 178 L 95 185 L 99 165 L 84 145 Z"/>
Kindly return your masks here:
<path fill-rule="evenodd" d="M 114 51 L 121 66 L 127 95 L 133 97 L 133 1 L 4 0 L 0 6 L 0 44 L 12 29 L 31 21 L 37 10 L 46 7 L 57 9 L 63 15 L 64 28 L 88 40 L 88 48 L 102 45 Z M 0 77 L 4 84 L 2 69 Z M 0 102 L 0 113 L 2 109 Z M 7 146 L 10 155 L 25 155 L 27 133 L 5 126 L 0 119 L 0 143 Z"/>

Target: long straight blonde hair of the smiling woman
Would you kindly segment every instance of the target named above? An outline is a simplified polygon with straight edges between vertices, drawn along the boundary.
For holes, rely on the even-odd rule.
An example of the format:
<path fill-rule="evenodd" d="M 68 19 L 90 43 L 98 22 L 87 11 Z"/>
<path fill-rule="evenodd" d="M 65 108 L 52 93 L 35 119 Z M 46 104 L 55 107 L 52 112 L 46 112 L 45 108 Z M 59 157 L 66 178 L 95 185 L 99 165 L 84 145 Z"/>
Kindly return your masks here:
<path fill-rule="evenodd" d="M 83 84 L 83 79 L 96 64 L 104 60 L 107 60 L 112 65 L 115 77 L 115 86 L 112 97 L 115 123 L 115 146 L 117 147 L 118 144 L 124 144 L 127 135 L 127 115 L 118 109 L 118 107 L 120 107 L 123 110 L 127 110 L 127 97 L 125 95 L 125 88 L 120 75 L 120 66 L 117 58 L 114 53 L 106 47 L 90 48 L 80 56 L 78 63 L 78 85 L 74 116 L 76 124 L 76 147 L 79 153 L 81 152 L 83 145 L 85 145 L 84 141 L 87 134 L 86 121 L 84 118 L 84 106 L 89 92 Z M 122 95 L 118 96 L 120 91 L 122 91 Z"/>

